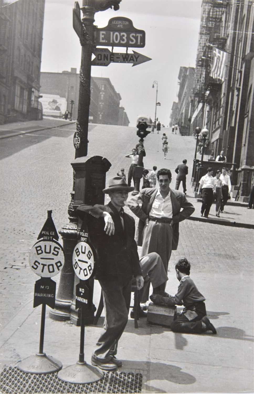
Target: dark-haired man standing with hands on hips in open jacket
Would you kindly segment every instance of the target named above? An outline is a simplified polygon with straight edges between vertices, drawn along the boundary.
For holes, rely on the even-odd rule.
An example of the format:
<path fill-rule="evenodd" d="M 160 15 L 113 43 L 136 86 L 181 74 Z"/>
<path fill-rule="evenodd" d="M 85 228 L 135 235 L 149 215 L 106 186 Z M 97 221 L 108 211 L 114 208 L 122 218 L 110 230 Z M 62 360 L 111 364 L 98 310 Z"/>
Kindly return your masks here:
<path fill-rule="evenodd" d="M 169 169 L 160 169 L 157 179 L 159 188 L 142 189 L 128 201 L 128 206 L 139 217 L 135 238 L 142 246 L 141 256 L 158 253 L 167 272 L 171 252 L 178 247 L 179 222 L 193 214 L 195 208 L 184 193 L 169 188 L 172 180 Z M 149 294 L 149 286 L 150 282 L 145 282 L 144 294 Z"/>

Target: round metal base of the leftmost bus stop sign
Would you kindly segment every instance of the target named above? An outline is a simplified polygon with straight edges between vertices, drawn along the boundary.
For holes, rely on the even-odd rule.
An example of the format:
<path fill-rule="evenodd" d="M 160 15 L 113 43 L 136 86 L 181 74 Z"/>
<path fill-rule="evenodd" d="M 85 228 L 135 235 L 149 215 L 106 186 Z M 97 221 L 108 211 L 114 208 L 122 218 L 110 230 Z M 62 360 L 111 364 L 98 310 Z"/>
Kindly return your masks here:
<path fill-rule="evenodd" d="M 28 374 L 51 374 L 59 371 L 63 364 L 61 361 L 47 356 L 45 353 L 37 353 L 19 362 L 17 365 L 20 371 Z"/>

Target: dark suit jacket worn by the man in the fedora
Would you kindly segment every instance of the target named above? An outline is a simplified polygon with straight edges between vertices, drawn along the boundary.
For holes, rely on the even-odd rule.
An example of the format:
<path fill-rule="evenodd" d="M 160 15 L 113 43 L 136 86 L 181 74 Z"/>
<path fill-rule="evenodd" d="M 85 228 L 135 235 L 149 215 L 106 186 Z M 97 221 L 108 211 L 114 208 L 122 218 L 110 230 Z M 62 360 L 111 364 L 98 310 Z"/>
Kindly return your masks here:
<path fill-rule="evenodd" d="M 115 234 L 111 236 L 104 231 L 105 222 L 101 216 L 105 211 L 109 212 L 115 225 Z M 120 214 L 111 203 L 80 205 L 77 214 L 82 220 L 87 220 L 91 243 L 98 255 L 96 279 L 113 281 L 121 277 L 131 279 L 133 275 L 142 275 L 137 244 L 134 240 L 135 221 L 132 216 L 123 213 L 123 230 Z"/>

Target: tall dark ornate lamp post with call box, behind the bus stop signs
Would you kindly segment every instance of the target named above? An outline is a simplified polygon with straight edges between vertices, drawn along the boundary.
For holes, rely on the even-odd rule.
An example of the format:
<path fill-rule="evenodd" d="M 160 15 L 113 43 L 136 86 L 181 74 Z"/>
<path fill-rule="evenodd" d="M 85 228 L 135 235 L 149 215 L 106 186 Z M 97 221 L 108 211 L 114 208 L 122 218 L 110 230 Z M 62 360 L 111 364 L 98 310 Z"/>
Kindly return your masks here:
<path fill-rule="evenodd" d="M 106 172 L 111 164 L 106 158 L 101 156 L 87 156 L 88 145 L 88 123 L 89 106 L 91 99 L 91 58 L 94 48 L 95 13 L 105 11 L 108 8 L 119 9 L 121 0 L 83 0 L 80 9 L 78 2 L 75 2 L 73 9 L 73 28 L 77 33 L 82 46 L 81 66 L 80 66 L 80 90 L 78 100 L 78 117 L 76 121 L 76 133 L 74 134 L 75 160 L 71 163 L 73 167 L 73 191 L 68 208 L 69 223 L 64 225 L 59 231 L 63 238 L 63 249 L 65 252 L 65 264 L 61 271 L 55 309 L 50 311 L 50 317 L 54 320 L 72 320 L 75 324 L 80 324 L 78 313 L 71 308 L 74 292 L 74 269 L 72 267 L 72 253 L 77 243 L 80 232 L 80 223 L 76 216 L 76 208 L 80 204 L 103 204 L 104 195 L 102 189 L 105 188 Z M 80 17 L 82 10 L 83 17 Z M 92 280 L 93 281 L 93 280 Z M 93 283 L 91 283 L 91 291 Z M 92 323 L 94 319 L 95 307 L 87 312 L 86 324 Z"/>

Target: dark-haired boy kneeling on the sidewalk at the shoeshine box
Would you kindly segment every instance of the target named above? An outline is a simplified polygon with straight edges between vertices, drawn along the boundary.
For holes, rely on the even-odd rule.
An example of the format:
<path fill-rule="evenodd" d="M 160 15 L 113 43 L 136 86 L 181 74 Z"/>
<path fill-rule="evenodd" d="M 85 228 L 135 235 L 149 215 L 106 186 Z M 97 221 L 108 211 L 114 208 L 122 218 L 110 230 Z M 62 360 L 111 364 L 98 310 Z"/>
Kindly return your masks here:
<path fill-rule="evenodd" d="M 181 313 L 176 313 L 171 324 L 171 330 L 176 333 L 201 334 L 212 331 L 217 334 L 215 327 L 206 316 L 205 297 L 198 291 L 197 286 L 189 277 L 191 264 L 187 258 L 181 258 L 176 264 L 176 277 L 180 282 L 175 296 L 163 297 L 152 294 L 151 301 L 162 305 L 184 305 Z"/>

